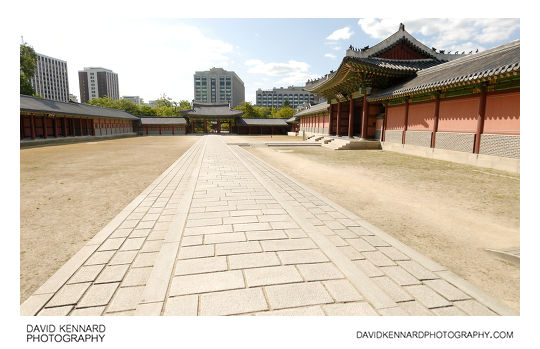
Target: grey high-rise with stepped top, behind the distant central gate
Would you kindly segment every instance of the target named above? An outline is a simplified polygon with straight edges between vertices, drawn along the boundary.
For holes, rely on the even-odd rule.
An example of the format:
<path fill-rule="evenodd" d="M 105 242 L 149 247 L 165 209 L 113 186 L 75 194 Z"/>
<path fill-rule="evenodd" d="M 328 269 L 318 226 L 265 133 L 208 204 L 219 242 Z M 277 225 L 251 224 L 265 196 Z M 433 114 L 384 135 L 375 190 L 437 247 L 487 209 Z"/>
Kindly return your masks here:
<path fill-rule="evenodd" d="M 195 72 L 193 89 L 195 102 L 230 102 L 234 108 L 245 101 L 244 82 L 235 72 L 222 68 Z"/>

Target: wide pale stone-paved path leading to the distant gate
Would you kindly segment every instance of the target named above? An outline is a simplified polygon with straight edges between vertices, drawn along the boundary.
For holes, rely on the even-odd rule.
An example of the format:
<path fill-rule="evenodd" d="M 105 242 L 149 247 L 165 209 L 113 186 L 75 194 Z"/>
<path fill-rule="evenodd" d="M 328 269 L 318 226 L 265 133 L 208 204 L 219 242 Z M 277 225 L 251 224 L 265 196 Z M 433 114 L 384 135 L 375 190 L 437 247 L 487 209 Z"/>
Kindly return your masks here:
<path fill-rule="evenodd" d="M 23 315 L 515 315 L 220 136 L 202 137 Z"/>

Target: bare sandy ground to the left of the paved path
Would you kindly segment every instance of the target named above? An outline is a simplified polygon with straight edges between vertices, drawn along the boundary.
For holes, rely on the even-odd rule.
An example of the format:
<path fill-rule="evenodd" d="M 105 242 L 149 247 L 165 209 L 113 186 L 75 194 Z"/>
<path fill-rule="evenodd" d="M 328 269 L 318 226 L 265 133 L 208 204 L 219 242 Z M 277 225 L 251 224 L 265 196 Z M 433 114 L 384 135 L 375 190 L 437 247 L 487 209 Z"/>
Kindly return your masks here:
<path fill-rule="evenodd" d="M 21 149 L 21 303 L 198 139 Z"/>

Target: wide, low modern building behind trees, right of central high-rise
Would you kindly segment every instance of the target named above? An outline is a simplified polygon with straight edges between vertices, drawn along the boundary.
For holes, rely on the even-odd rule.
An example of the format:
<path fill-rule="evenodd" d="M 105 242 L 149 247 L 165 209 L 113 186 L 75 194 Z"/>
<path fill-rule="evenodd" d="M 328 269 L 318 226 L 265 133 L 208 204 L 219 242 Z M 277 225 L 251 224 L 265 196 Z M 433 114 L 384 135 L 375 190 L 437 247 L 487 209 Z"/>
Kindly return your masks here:
<path fill-rule="evenodd" d="M 299 86 L 289 86 L 287 88 L 273 88 L 271 90 L 257 90 L 256 105 L 261 107 L 281 108 L 285 100 L 289 101 L 289 106 L 293 109 L 301 106 L 304 102 L 308 102 L 311 105 L 319 104 L 325 101 L 324 98 L 317 96 L 316 94 L 304 91 Z"/>

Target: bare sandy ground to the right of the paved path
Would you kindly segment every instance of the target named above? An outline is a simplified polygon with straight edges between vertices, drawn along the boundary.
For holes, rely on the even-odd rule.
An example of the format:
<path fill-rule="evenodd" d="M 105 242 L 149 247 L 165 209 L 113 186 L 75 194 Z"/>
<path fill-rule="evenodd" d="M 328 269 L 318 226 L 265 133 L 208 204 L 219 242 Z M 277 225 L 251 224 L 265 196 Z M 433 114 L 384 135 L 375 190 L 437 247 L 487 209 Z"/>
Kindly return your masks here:
<path fill-rule="evenodd" d="M 253 154 L 519 311 L 519 176 L 378 150 L 263 146 Z M 275 139 L 274 139 L 275 140 Z"/>

